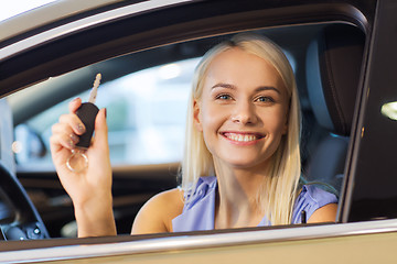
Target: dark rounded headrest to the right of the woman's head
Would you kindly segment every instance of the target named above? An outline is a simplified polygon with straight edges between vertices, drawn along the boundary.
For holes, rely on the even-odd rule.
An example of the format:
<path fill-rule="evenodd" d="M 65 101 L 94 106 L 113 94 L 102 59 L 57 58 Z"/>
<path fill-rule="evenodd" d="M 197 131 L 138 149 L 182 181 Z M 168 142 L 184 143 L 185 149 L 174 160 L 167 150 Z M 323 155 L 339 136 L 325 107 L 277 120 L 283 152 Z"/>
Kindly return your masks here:
<path fill-rule="evenodd" d="M 308 94 L 323 128 L 350 135 L 362 68 L 365 34 L 352 25 L 328 25 L 307 54 Z"/>

